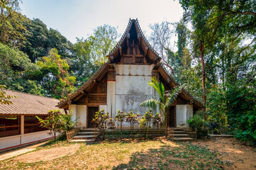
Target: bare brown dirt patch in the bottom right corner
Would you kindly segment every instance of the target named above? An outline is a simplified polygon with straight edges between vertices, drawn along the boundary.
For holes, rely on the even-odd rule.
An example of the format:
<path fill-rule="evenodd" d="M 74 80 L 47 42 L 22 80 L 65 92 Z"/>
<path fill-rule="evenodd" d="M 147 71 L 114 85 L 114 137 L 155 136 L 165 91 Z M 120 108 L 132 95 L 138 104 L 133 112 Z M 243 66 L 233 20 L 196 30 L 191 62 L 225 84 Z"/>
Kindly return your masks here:
<path fill-rule="evenodd" d="M 196 142 L 221 154 L 221 159 L 233 163 L 234 169 L 256 169 L 256 148 L 243 145 L 233 137 L 216 137 Z"/>

